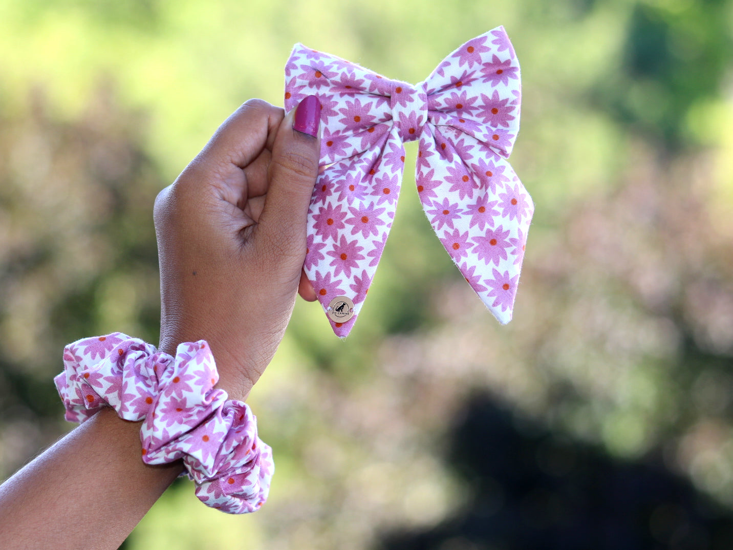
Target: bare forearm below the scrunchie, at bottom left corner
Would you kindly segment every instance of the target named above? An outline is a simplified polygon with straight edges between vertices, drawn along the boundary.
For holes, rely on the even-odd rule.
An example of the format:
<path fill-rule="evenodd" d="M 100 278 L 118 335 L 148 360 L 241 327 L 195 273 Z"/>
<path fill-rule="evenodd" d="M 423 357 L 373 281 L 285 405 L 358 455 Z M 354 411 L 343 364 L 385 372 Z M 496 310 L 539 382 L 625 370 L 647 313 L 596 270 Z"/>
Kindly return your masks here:
<path fill-rule="evenodd" d="M 140 422 L 104 408 L 0 486 L 0 546 L 116 549 L 183 463 L 141 461 Z"/>

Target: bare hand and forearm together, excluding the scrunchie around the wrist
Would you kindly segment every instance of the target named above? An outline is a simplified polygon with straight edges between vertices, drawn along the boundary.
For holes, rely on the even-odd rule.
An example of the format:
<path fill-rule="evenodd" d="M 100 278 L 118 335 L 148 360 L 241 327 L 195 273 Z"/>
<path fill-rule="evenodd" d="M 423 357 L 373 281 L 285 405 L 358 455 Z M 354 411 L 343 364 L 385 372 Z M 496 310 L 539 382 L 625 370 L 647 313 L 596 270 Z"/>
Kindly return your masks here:
<path fill-rule="evenodd" d="M 306 103 L 308 102 L 308 103 Z M 311 124 L 303 124 L 309 121 Z M 301 124 L 293 130 L 293 119 Z M 306 214 L 318 171 L 320 104 L 283 116 L 260 100 L 232 114 L 155 200 L 161 350 L 205 339 L 219 386 L 245 399 L 272 359 L 302 274 Z M 18 548 L 117 548 L 183 470 L 140 460 L 140 422 L 104 408 L 0 486 L 0 532 Z M 121 481 L 122 480 L 122 481 Z M 68 503 L 105 496 L 88 521 Z"/>

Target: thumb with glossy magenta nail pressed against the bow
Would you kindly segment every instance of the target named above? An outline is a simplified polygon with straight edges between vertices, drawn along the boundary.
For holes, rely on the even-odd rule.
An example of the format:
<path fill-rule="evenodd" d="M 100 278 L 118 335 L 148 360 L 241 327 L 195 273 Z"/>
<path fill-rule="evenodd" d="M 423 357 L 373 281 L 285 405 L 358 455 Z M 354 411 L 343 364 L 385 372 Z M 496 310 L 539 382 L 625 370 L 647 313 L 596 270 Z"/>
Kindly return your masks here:
<path fill-rule="evenodd" d="M 287 257 L 306 252 L 306 219 L 320 158 L 320 101 L 309 95 L 282 120 L 273 142 L 268 191 L 258 220 L 265 243 Z M 301 265 L 298 265 L 300 268 Z"/>

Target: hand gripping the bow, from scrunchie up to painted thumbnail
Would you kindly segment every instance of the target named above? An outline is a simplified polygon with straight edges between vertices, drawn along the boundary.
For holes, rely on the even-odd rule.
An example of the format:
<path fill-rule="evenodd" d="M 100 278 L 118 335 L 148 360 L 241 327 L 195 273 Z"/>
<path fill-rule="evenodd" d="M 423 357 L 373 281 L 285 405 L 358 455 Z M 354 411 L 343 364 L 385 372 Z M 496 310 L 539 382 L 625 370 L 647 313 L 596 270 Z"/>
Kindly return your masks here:
<path fill-rule="evenodd" d="M 161 351 L 207 340 L 232 398 L 272 359 L 298 287 L 315 299 L 302 267 L 319 119 L 314 96 L 287 116 L 249 100 L 155 199 Z"/>

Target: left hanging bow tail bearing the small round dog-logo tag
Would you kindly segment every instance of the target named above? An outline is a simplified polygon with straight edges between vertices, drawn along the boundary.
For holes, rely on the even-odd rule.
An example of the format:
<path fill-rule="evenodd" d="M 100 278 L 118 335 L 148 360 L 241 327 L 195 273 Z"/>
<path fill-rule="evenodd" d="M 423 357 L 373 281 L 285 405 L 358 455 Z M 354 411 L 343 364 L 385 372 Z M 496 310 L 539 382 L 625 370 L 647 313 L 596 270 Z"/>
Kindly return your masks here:
<path fill-rule="evenodd" d="M 405 148 L 394 128 L 380 141 L 372 150 L 326 166 L 308 210 L 303 268 L 340 338 L 349 334 L 367 298 L 397 208 Z M 354 311 L 340 322 L 328 307 L 342 296 L 353 302 Z"/>

